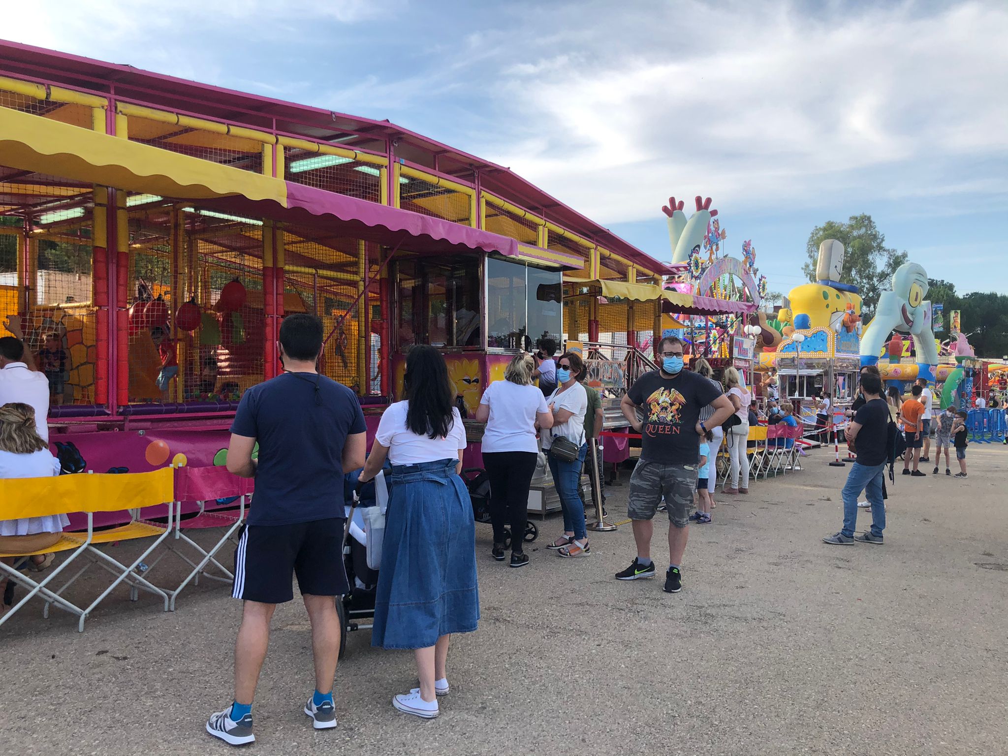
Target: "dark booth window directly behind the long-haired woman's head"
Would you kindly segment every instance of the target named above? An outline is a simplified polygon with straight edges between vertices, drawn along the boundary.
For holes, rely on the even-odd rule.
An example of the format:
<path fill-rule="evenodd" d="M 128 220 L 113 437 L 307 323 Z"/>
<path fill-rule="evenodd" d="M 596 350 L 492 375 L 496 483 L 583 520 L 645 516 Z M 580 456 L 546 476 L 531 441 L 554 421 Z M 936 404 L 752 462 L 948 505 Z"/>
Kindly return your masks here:
<path fill-rule="evenodd" d="M 404 260 L 396 265 L 396 344 L 471 347 L 480 344 L 480 260 Z"/>

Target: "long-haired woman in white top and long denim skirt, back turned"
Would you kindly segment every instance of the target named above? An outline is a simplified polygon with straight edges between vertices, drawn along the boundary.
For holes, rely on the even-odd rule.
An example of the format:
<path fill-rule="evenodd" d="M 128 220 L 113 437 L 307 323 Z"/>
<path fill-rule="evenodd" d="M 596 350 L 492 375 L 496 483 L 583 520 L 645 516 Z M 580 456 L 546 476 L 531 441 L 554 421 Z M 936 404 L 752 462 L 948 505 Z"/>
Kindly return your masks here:
<path fill-rule="evenodd" d="M 360 477 L 370 481 L 386 458 L 392 465 L 371 644 L 414 649 L 420 684 L 392 706 L 430 719 L 436 697 L 449 692 L 449 638 L 480 619 L 476 529 L 459 475 L 466 429 L 436 349 L 409 350 L 404 388 L 406 400 L 382 415 Z"/>

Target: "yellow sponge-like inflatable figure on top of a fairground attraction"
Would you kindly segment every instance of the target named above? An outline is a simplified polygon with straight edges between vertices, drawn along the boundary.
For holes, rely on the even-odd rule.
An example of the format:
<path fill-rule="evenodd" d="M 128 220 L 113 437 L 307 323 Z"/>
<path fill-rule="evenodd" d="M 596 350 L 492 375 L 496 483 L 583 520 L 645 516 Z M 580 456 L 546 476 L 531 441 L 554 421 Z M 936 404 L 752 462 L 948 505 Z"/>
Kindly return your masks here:
<path fill-rule="evenodd" d="M 792 288 L 787 298 L 794 312 L 794 328 L 829 328 L 838 331 L 845 319 L 857 323 L 861 318 L 861 295 L 858 287 L 840 281 L 844 270 L 844 245 L 827 239 L 820 245 L 815 266 L 815 283 Z"/>

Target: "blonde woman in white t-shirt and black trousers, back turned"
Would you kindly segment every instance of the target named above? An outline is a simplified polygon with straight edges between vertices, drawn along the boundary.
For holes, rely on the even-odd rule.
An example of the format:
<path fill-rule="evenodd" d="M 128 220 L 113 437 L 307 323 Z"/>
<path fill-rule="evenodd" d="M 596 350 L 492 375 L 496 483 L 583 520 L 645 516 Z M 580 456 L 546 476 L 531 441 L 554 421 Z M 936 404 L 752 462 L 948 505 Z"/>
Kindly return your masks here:
<path fill-rule="evenodd" d="M 553 425 L 545 397 L 532 385 L 534 369 L 530 354 L 515 356 L 504 369 L 504 380 L 487 386 L 476 410 L 476 419 L 487 423 L 482 451 L 490 478 L 490 519 L 494 525 L 491 555 L 504 560 L 505 527 L 510 523 L 513 568 L 528 563 L 522 543 L 528 520 L 528 490 L 539 457 L 535 428 Z"/>

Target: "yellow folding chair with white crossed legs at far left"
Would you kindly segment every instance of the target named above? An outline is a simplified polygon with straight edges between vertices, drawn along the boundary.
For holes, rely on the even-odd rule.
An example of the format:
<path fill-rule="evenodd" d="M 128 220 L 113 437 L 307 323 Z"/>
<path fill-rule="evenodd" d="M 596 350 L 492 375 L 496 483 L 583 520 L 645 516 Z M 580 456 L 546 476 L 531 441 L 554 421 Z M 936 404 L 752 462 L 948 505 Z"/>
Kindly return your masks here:
<path fill-rule="evenodd" d="M 41 581 L 22 575 L 14 568 L 0 563 L 0 571 L 20 586 L 28 589 L 28 593 L 14 605 L 3 617 L 0 625 L 13 616 L 29 599 L 38 595 L 45 600 L 42 612 L 48 617 L 50 605 L 55 605 L 81 618 L 78 630 L 84 632 L 84 622 L 94 609 L 123 582 L 130 587 L 130 598 L 136 600 L 137 591 L 144 590 L 164 599 L 164 609 L 168 608 L 168 597 L 156 586 L 151 585 L 134 571 L 143 563 L 157 545 L 164 540 L 171 530 L 170 503 L 173 501 L 173 483 L 170 468 L 156 470 L 152 473 L 117 474 L 81 474 L 66 475 L 54 478 L 14 478 L 0 480 L 0 518 L 20 519 L 51 514 L 69 514 L 85 512 L 88 518 L 86 532 L 65 532 L 59 541 L 37 553 L 49 553 L 73 549 L 58 566 L 53 569 Z M 167 526 L 147 523 L 136 518 L 143 507 L 157 503 L 169 506 Z M 134 514 L 129 523 L 109 530 L 95 532 L 94 514 L 96 512 L 114 512 L 130 510 Z M 146 548 L 130 565 L 122 564 L 108 554 L 96 548 L 99 543 L 133 540 L 157 536 L 154 542 Z M 0 556 L 27 556 L 28 554 L 2 553 Z M 60 588 L 49 588 L 56 576 L 78 560 L 80 556 L 88 557 L 81 570 Z M 87 608 L 82 609 L 64 596 L 70 586 L 80 578 L 92 563 L 97 563 L 116 576 L 112 584 L 95 599 Z"/>

